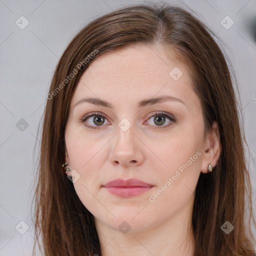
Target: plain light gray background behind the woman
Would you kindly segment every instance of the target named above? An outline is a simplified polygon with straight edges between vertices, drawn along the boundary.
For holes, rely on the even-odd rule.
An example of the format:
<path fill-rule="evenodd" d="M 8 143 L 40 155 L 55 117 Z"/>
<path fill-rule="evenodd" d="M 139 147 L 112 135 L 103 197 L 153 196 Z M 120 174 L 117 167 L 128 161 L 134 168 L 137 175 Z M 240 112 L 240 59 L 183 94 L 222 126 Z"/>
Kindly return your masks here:
<path fill-rule="evenodd" d="M 90 20 L 135 2 L 143 1 L 0 0 L 0 256 L 31 255 L 30 207 L 39 144 L 36 133 L 60 55 Z M 185 7 L 180 1 L 166 2 L 179 2 Z M 247 158 L 255 208 L 256 0 L 184 0 L 183 3 L 223 40 L 223 48 L 234 67 L 251 152 Z M 24 29 L 15 23 L 20 22 L 22 15 L 29 21 Z M 226 15 L 234 21 L 229 29 L 221 24 Z M 25 230 L 20 221 L 29 226 L 24 234 L 15 228 Z"/>

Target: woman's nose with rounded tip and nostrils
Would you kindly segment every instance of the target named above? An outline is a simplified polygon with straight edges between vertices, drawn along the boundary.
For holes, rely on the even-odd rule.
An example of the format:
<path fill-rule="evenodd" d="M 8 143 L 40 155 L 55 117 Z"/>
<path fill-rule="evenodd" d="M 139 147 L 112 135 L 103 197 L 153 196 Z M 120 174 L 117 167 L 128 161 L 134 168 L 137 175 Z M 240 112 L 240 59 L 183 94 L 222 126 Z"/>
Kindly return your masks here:
<path fill-rule="evenodd" d="M 117 126 L 117 134 L 112 139 L 112 150 L 109 154 L 112 164 L 135 167 L 143 162 L 143 143 L 133 131 L 133 126 L 126 131 Z"/>

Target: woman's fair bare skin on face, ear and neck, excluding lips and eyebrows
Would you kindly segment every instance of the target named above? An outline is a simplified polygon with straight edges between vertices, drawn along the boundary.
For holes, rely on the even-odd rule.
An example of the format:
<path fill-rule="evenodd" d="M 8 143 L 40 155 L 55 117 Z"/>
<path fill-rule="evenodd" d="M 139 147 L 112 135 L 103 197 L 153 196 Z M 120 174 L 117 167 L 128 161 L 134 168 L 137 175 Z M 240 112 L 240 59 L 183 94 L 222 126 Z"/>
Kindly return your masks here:
<path fill-rule="evenodd" d="M 169 75 L 174 67 L 182 71 L 177 80 Z M 161 45 L 136 45 L 103 53 L 78 81 L 65 127 L 66 161 L 72 170 L 67 175 L 79 174 L 73 185 L 94 216 L 103 256 L 193 253 L 196 183 L 209 163 L 216 165 L 221 145 L 215 122 L 204 139 L 200 100 L 192 90 L 188 70 Z M 142 99 L 162 95 L 179 98 L 184 104 L 165 101 L 137 107 Z M 113 108 L 88 102 L 74 106 L 85 97 L 109 101 Z M 102 122 L 93 122 L 93 116 L 87 119 L 96 129 L 80 121 L 94 111 L 106 117 Z M 153 115 L 154 111 L 169 113 L 176 121 L 166 117 L 159 124 L 154 118 L 162 115 Z M 118 126 L 123 118 L 131 124 L 126 131 Z M 200 155 L 194 159 L 196 152 Z M 190 157 L 192 163 L 166 185 Z M 138 178 L 153 187 L 134 197 L 118 197 L 102 187 L 115 178 Z M 164 184 L 165 191 L 150 201 Z M 130 227 L 126 233 L 118 228 L 123 221 L 128 225 L 122 225 Z"/>

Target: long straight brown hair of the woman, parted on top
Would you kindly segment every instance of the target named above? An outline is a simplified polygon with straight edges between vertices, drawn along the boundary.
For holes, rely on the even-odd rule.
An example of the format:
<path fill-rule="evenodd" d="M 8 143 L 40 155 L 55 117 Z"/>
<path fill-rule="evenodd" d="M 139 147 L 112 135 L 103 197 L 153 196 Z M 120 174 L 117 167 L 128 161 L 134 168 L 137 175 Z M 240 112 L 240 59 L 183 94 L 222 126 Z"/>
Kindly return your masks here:
<path fill-rule="evenodd" d="M 174 49 L 188 65 L 194 92 L 200 98 L 205 131 L 214 120 L 219 125 L 221 154 L 211 173 L 200 173 L 195 191 L 194 255 L 255 254 L 251 226 L 256 223 L 244 155 L 247 144 L 233 88 L 236 81 L 213 36 L 216 37 L 184 8 L 147 3 L 98 17 L 71 40 L 56 66 L 43 116 L 34 194 L 34 247 L 41 239 L 39 247 L 46 256 L 101 255 L 93 215 L 81 203 L 61 167 L 70 99 L 83 71 L 104 52 L 134 43 L 149 47 L 160 43 L 166 49 Z M 225 221 L 234 226 L 229 234 L 221 230 Z"/>

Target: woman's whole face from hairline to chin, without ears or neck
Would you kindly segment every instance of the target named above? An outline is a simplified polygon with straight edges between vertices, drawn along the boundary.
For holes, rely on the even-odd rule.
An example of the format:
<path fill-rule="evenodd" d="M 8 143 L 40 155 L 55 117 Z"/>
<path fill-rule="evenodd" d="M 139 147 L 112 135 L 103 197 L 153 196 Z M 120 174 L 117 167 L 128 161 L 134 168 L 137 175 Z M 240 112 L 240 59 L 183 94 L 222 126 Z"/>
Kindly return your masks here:
<path fill-rule="evenodd" d="M 95 221 L 135 232 L 191 213 L 205 141 L 188 67 L 161 46 L 103 53 L 75 88 L 65 144 Z"/>

